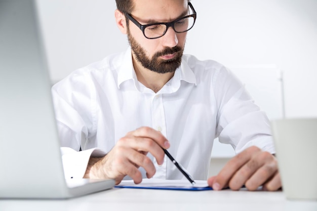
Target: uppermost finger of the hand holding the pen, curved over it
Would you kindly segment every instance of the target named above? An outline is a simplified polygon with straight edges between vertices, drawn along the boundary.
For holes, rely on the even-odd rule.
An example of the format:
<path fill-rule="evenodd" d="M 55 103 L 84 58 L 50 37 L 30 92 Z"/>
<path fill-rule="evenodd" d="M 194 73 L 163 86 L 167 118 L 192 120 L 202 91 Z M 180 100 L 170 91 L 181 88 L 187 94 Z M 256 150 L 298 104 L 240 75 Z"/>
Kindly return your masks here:
<path fill-rule="evenodd" d="M 141 127 L 132 132 L 132 135 L 135 137 L 146 137 L 150 138 L 159 144 L 164 149 L 168 149 L 170 147 L 170 142 L 163 136 L 163 134 L 159 131 L 156 131 L 149 127 Z"/>

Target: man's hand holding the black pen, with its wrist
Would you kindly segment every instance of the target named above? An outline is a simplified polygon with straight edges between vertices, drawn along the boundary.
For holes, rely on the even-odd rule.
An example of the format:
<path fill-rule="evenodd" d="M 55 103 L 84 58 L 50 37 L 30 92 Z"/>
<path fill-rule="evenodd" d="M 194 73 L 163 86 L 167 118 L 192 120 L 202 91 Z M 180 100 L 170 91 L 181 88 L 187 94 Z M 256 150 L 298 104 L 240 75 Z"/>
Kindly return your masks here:
<path fill-rule="evenodd" d="M 136 184 L 142 181 L 140 166 L 147 178 L 155 174 L 153 162 L 146 156 L 150 152 L 157 164 L 163 164 L 163 149 L 170 147 L 169 141 L 161 132 L 149 127 L 138 128 L 117 141 L 104 157 L 91 157 L 84 178 L 115 179 L 119 184 L 128 175 Z"/>

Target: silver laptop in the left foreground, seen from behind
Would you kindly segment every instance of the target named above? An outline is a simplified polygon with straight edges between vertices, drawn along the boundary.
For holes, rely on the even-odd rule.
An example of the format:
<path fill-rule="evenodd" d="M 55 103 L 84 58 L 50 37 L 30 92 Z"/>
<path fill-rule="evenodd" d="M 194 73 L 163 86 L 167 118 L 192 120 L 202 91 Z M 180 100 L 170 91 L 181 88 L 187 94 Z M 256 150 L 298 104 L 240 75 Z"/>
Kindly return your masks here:
<path fill-rule="evenodd" d="M 67 185 L 39 31 L 34 1 L 0 0 L 0 198 L 69 198 L 110 189 L 114 180 Z"/>

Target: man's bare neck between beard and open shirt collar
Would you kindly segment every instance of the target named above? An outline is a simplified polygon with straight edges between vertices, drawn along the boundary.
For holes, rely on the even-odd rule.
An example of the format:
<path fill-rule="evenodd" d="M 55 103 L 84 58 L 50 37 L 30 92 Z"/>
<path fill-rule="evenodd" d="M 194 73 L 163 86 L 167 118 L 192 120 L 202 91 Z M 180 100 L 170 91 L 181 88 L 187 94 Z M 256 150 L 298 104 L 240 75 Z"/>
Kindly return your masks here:
<path fill-rule="evenodd" d="M 138 61 L 133 58 L 133 67 L 137 75 L 138 81 L 145 87 L 159 92 L 163 86 L 174 76 L 174 72 L 157 73 L 144 68 Z"/>

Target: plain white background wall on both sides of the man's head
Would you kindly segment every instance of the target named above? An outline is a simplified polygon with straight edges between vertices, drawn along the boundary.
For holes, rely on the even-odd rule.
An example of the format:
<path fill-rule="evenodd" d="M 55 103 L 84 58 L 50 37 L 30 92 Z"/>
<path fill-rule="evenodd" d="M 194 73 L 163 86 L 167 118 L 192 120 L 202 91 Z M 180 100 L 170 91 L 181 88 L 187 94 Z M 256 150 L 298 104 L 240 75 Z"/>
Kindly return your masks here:
<path fill-rule="evenodd" d="M 192 0 L 185 53 L 284 71 L 286 117 L 317 116 L 316 0 Z M 128 46 L 114 0 L 38 1 L 53 81 Z"/>

